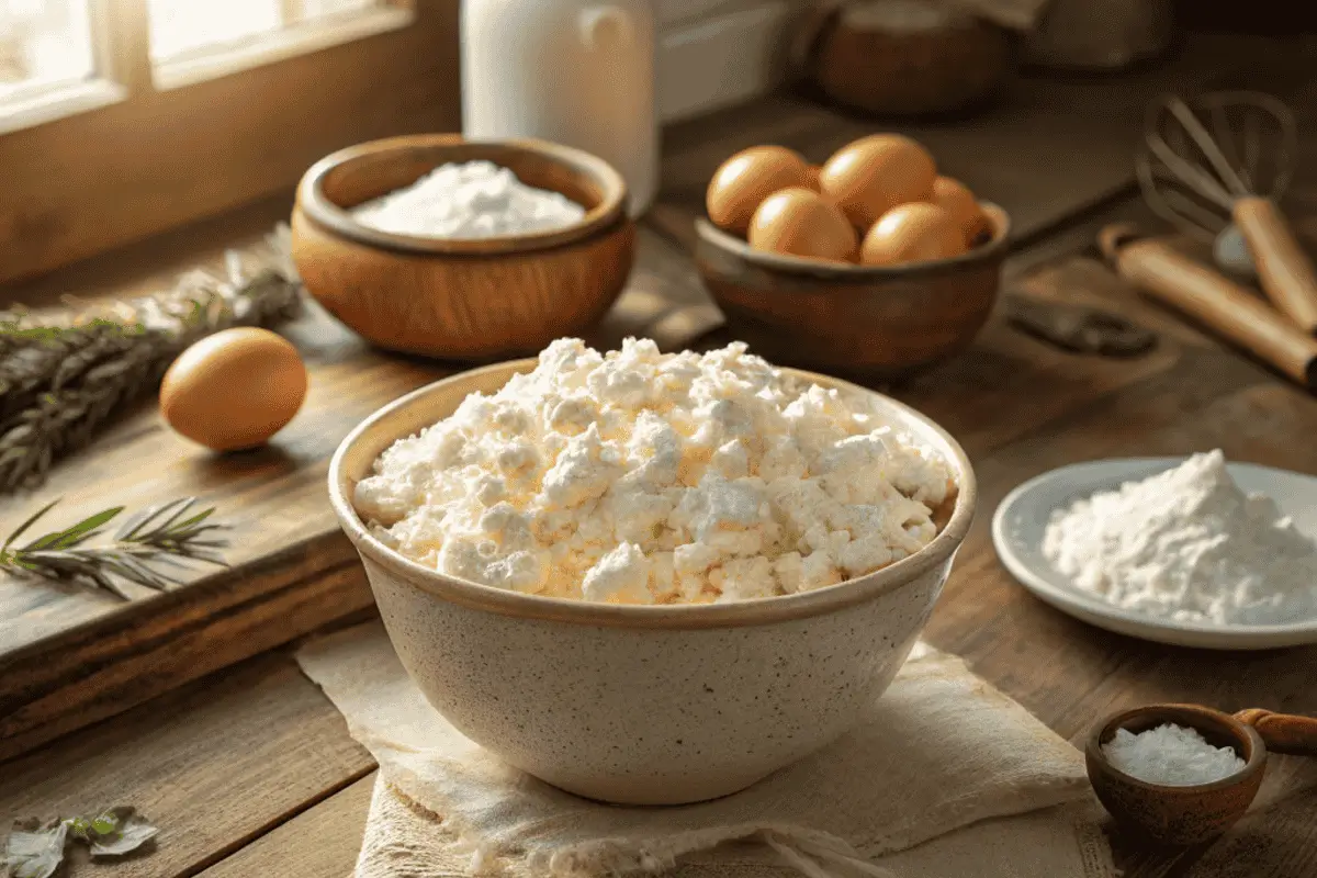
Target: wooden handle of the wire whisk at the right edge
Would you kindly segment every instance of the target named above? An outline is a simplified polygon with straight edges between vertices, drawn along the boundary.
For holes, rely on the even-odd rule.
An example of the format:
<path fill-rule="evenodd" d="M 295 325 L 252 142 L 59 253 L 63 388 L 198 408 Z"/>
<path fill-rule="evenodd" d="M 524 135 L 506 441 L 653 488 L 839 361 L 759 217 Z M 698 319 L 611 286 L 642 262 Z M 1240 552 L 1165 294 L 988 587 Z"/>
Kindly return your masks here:
<path fill-rule="evenodd" d="M 1317 334 L 1317 270 L 1280 208 L 1268 199 L 1245 197 L 1233 213 L 1267 297 L 1305 333 Z"/>

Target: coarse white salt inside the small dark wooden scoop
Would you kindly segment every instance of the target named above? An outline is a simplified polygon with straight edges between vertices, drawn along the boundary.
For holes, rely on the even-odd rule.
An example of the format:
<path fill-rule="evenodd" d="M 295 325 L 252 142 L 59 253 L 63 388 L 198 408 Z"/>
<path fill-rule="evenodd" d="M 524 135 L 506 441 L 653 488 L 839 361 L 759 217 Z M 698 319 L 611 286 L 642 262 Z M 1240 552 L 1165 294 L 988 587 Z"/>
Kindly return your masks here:
<path fill-rule="evenodd" d="M 1102 745 L 1112 767 L 1147 783 L 1187 787 L 1222 781 L 1245 767 L 1229 746 L 1216 746 L 1193 728 L 1166 723 L 1144 732 L 1117 729 Z"/>

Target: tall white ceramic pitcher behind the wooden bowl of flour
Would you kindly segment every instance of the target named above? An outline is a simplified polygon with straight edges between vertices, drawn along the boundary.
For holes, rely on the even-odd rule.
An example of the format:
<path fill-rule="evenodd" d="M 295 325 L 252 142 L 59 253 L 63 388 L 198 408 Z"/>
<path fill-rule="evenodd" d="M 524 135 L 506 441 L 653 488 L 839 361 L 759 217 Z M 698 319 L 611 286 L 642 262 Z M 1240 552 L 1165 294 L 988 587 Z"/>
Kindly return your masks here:
<path fill-rule="evenodd" d="M 631 215 L 658 187 L 649 0 L 462 0 L 466 137 L 537 137 L 626 178 Z"/>

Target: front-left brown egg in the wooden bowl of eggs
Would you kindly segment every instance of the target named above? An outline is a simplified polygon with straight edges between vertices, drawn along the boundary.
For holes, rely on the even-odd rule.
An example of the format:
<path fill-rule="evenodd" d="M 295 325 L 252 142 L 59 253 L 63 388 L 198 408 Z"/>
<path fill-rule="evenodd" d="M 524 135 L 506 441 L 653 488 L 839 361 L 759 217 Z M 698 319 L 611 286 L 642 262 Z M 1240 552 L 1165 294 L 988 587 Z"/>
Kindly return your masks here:
<path fill-rule="evenodd" d="M 847 262 L 856 234 L 842 211 L 818 192 L 793 187 L 774 192 L 755 211 L 747 236 L 757 250 Z"/>

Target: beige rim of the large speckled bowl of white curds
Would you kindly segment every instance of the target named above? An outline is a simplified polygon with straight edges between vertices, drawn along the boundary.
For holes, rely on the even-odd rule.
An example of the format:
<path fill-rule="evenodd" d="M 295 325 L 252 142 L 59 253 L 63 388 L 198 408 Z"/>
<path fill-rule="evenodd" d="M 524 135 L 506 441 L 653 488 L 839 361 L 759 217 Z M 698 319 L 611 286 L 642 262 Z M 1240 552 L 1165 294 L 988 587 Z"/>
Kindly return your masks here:
<path fill-rule="evenodd" d="M 448 388 L 454 383 L 470 382 L 475 376 L 498 371 L 506 371 L 511 378 L 519 371 L 532 370 L 536 363 L 536 358 L 508 361 L 427 384 L 379 408 L 344 438 L 329 463 L 329 499 L 344 533 L 365 561 L 383 567 L 400 581 L 443 600 L 504 616 L 611 628 L 735 628 L 822 616 L 873 600 L 950 561 L 969 532 L 975 516 L 977 486 L 968 455 L 950 433 L 925 415 L 876 391 L 828 375 L 782 367 L 782 371 L 789 375 L 813 380 L 824 387 L 836 387 L 877 398 L 884 407 L 918 423 L 925 430 L 940 440 L 943 448 L 938 450 L 947 458 L 957 491 L 951 517 L 932 542 L 881 570 L 815 591 L 724 604 L 635 606 L 597 604 L 565 598 L 525 595 L 458 579 L 432 567 L 421 566 L 371 536 L 352 505 L 352 487 L 348 484 L 346 465 L 353 449 L 367 438 L 377 438 L 390 416 L 421 404 L 441 387 Z M 391 436 L 389 442 L 398 438 L 403 437 Z"/>

